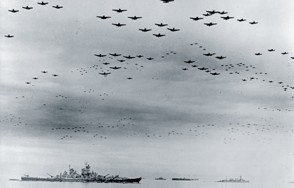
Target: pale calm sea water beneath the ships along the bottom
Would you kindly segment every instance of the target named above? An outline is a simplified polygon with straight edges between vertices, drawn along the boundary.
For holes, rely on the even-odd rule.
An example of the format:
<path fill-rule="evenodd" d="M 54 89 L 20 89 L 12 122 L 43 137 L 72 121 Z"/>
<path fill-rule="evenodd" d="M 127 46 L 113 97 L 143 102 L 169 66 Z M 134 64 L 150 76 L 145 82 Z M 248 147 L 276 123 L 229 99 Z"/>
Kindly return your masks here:
<path fill-rule="evenodd" d="M 288 182 L 224 183 L 195 181 L 172 181 L 142 179 L 140 183 L 96 183 L 96 182 L 39 182 L 1 179 L 1 188 L 294 188 Z"/>

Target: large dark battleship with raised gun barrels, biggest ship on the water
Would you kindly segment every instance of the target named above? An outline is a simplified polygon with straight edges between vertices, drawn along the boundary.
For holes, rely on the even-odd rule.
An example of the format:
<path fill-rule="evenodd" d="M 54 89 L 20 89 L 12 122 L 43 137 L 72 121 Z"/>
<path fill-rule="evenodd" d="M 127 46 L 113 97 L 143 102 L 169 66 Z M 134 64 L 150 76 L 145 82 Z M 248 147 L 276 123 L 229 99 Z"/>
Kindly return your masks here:
<path fill-rule="evenodd" d="M 40 178 L 40 177 L 31 177 L 29 175 L 23 175 L 21 177 L 22 181 L 48 181 L 48 182 L 98 182 L 98 183 L 139 183 L 141 181 L 140 178 L 123 178 L 119 177 L 119 175 L 109 176 L 107 175 L 98 175 L 94 171 L 90 171 L 90 165 L 85 163 L 86 168 L 82 169 L 81 174 L 78 174 L 76 170 L 70 168 L 70 173 L 68 174 L 67 171 L 64 171 L 63 174 L 60 172 L 59 175 L 51 176 L 47 178 Z M 70 165 L 69 165 L 70 167 Z"/>

